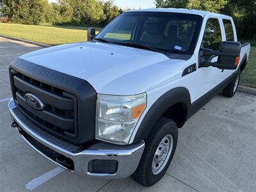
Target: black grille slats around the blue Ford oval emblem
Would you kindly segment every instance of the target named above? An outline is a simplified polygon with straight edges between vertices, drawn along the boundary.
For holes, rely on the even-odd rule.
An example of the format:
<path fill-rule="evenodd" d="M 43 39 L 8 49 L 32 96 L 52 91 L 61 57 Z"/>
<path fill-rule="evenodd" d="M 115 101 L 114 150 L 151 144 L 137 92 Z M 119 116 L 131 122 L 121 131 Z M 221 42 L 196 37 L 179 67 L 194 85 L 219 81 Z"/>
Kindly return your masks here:
<path fill-rule="evenodd" d="M 14 99 L 29 120 L 57 136 L 66 135 L 70 138 L 77 136 L 75 96 L 20 73 L 13 73 L 12 84 L 15 90 Z M 24 98 L 28 92 L 40 96 L 40 100 L 45 104 L 43 111 L 28 106 Z"/>

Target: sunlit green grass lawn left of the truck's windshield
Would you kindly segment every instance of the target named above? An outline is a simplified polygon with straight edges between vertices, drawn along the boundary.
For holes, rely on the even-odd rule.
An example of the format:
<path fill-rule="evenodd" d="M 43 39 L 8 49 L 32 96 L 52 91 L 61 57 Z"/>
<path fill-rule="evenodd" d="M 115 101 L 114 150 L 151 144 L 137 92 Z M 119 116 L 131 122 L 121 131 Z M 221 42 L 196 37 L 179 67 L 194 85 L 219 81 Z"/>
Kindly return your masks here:
<path fill-rule="evenodd" d="M 96 28 L 100 31 L 101 28 Z M 32 26 L 0 23 L 0 34 L 32 40 L 48 45 L 82 42 L 87 39 L 87 27 L 78 26 Z"/>

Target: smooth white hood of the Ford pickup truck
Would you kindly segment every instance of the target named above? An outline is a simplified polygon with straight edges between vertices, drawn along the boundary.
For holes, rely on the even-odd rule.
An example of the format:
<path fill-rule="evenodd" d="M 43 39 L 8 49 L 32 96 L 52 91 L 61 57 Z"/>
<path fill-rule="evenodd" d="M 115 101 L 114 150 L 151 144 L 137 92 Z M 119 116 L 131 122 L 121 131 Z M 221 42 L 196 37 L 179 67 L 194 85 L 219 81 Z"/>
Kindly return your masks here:
<path fill-rule="evenodd" d="M 97 93 L 111 95 L 147 92 L 174 80 L 186 66 L 175 56 L 101 42 L 59 45 L 20 58 L 84 79 Z"/>

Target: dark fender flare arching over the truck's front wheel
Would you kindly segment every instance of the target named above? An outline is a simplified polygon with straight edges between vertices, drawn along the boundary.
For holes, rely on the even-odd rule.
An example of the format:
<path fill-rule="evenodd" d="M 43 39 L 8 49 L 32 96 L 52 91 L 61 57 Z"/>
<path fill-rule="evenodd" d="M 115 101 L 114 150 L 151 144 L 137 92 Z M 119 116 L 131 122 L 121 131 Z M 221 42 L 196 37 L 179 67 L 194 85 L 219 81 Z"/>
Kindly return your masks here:
<path fill-rule="evenodd" d="M 185 107 L 184 124 L 191 108 L 191 97 L 187 88 L 177 87 L 164 93 L 164 95 L 159 97 L 150 107 L 136 132 L 133 143 L 147 138 L 160 116 L 163 115 L 168 108 L 173 106 L 173 104 L 177 104 L 178 102 L 184 104 Z"/>

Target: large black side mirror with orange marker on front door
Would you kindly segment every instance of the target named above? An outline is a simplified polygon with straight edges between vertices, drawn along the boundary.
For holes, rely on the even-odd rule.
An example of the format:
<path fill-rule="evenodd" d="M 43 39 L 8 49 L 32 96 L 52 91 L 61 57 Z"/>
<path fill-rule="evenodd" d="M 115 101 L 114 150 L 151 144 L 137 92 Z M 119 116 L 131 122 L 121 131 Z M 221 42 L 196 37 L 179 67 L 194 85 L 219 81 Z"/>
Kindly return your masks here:
<path fill-rule="evenodd" d="M 239 42 L 221 42 L 219 51 L 211 51 L 209 49 L 201 49 L 200 56 L 215 55 L 218 61 L 203 61 L 202 67 L 217 67 L 220 69 L 234 70 L 239 64 L 239 56 L 241 44 Z"/>

